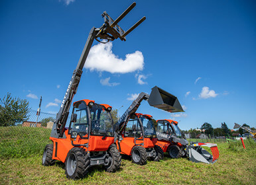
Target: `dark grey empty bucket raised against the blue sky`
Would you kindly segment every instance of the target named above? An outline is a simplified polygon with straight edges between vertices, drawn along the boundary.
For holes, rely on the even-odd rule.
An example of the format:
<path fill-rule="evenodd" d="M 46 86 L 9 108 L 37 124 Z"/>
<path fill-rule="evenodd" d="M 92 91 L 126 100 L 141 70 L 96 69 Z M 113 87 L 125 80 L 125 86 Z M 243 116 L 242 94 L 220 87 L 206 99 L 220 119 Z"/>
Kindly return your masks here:
<path fill-rule="evenodd" d="M 178 98 L 159 87 L 153 87 L 148 99 L 149 105 L 168 112 L 184 112 Z"/>

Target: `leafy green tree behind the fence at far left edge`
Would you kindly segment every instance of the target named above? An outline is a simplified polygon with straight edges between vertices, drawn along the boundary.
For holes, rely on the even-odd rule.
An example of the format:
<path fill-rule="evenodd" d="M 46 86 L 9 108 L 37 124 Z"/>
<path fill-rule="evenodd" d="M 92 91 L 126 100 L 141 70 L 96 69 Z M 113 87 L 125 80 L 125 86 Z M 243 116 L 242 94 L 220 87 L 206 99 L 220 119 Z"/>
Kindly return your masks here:
<path fill-rule="evenodd" d="M 0 98 L 0 126 L 15 126 L 29 119 L 29 102 L 21 98 L 13 98 L 11 93 Z"/>

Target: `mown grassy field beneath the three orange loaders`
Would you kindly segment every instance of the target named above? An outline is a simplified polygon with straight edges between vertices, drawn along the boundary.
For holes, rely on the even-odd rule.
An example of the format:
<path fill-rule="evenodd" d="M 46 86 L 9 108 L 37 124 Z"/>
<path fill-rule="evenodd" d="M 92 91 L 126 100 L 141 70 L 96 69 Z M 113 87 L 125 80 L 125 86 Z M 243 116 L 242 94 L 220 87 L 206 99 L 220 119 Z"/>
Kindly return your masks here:
<path fill-rule="evenodd" d="M 42 166 L 42 151 L 23 157 L 1 155 L 0 184 L 255 184 L 255 143 L 245 141 L 245 146 L 246 150 L 240 142 L 231 146 L 218 143 L 220 159 L 213 165 L 170 159 L 166 155 L 158 163 L 148 161 L 139 166 L 123 156 L 117 172 L 108 173 L 97 166 L 82 180 L 68 180 L 62 163 Z"/>

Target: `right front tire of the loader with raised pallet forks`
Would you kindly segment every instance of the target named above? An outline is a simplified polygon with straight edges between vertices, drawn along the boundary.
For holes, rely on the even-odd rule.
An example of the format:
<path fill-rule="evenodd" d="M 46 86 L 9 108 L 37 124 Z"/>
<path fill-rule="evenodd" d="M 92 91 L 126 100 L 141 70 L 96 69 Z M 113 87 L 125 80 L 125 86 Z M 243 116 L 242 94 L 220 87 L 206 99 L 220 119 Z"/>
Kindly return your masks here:
<path fill-rule="evenodd" d="M 107 153 L 109 155 L 109 165 L 105 166 L 105 170 L 107 172 L 115 172 L 121 166 L 121 155 L 117 150 L 117 146 L 115 144 L 110 145 Z"/>

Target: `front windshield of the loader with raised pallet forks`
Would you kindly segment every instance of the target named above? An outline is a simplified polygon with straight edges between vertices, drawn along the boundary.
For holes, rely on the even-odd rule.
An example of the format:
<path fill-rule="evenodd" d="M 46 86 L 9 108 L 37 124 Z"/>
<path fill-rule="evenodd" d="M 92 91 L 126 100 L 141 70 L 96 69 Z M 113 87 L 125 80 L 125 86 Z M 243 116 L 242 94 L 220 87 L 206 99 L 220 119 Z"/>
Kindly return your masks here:
<path fill-rule="evenodd" d="M 113 136 L 113 121 L 111 114 L 103 106 L 94 104 L 90 108 L 92 118 L 92 135 Z"/>

